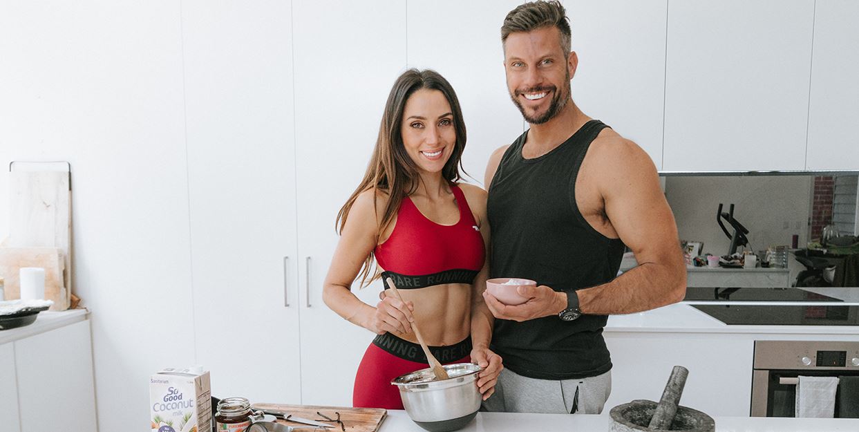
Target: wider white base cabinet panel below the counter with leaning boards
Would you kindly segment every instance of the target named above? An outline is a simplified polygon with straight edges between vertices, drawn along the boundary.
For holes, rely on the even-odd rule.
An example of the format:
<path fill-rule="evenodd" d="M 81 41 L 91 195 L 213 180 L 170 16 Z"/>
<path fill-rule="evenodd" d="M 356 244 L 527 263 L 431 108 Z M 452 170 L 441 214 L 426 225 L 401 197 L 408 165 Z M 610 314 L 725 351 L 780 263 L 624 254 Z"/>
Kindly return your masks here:
<path fill-rule="evenodd" d="M 96 430 L 89 334 L 82 320 L 13 343 L 21 432 Z"/>

